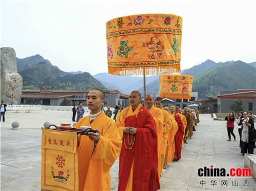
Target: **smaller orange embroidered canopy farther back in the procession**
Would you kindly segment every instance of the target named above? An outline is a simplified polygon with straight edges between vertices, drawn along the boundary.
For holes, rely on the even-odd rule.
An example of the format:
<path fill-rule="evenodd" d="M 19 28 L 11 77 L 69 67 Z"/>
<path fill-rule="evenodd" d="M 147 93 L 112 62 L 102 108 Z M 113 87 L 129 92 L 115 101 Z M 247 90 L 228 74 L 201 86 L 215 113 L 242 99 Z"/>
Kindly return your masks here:
<path fill-rule="evenodd" d="M 191 99 L 193 76 L 180 74 L 165 74 L 159 76 L 160 98 Z"/>

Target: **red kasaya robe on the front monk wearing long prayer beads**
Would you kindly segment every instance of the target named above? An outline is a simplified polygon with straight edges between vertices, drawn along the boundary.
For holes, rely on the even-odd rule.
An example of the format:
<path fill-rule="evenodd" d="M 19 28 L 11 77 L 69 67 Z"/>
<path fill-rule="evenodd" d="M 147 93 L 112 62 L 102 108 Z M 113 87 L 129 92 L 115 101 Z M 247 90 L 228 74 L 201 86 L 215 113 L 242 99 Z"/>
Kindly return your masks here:
<path fill-rule="evenodd" d="M 146 108 L 141 105 L 138 107 L 140 109 L 136 114 L 125 117 L 125 127 L 137 127 L 137 132 L 133 146 L 130 146 L 128 143 L 128 134 L 123 133 L 123 143 L 119 160 L 118 190 L 126 189 L 134 162 L 132 189 L 154 191 L 160 189 L 157 173 L 156 124 L 154 118 Z M 129 110 L 132 108 L 130 106 L 126 109 Z M 127 112 L 125 110 L 122 113 Z M 130 142 L 132 142 L 131 137 L 131 134 L 129 134 Z M 127 149 L 126 147 L 132 147 L 132 149 Z"/>

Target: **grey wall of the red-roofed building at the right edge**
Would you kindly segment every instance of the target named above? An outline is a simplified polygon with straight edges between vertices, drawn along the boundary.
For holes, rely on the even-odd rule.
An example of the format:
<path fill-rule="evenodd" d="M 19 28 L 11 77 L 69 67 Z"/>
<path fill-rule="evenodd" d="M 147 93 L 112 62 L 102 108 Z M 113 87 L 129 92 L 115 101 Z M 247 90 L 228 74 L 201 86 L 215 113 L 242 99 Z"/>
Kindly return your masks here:
<path fill-rule="evenodd" d="M 229 113 L 233 112 L 228 107 L 239 99 L 221 99 L 218 98 L 218 113 Z M 241 99 L 244 109 L 243 111 L 251 112 L 253 114 L 256 113 L 256 99 Z M 249 102 L 252 102 L 252 110 L 249 110 Z"/>

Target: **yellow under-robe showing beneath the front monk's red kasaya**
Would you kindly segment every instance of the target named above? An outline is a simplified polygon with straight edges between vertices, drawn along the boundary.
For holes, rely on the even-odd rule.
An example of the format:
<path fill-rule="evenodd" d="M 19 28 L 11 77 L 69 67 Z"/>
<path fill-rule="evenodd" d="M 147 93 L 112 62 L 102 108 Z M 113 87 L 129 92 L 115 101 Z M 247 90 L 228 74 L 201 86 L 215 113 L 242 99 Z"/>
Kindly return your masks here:
<path fill-rule="evenodd" d="M 123 129 L 124 127 L 124 123 L 125 123 L 125 118 L 129 117 L 131 115 L 136 115 L 139 113 L 141 104 L 139 104 L 139 106 L 133 111 L 132 106 L 126 107 L 125 109 L 122 110 L 122 112 L 118 115 L 117 120 L 116 120 L 116 126 L 119 132 L 119 135 L 121 137 L 121 139 L 123 140 Z M 132 168 L 131 168 L 131 173 L 130 173 L 130 177 L 128 179 L 127 185 L 125 190 L 133 190 L 133 170 L 134 170 L 134 158 L 133 158 L 133 164 L 132 164 Z"/>

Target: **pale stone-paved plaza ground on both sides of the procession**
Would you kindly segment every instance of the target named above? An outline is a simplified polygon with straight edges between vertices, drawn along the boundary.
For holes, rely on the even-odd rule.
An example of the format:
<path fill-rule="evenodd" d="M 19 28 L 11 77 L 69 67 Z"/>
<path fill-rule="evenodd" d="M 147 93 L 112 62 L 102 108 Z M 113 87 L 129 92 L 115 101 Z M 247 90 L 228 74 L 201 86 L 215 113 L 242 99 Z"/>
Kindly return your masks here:
<path fill-rule="evenodd" d="M 1 122 L 1 190 L 40 190 L 40 128 L 45 122 L 73 124 L 71 118 L 71 111 L 61 109 L 6 113 L 6 122 Z M 18 130 L 12 130 L 13 121 L 19 122 Z M 237 126 L 234 134 L 238 140 L 226 141 L 226 122 L 213 121 L 209 114 L 201 114 L 196 130 L 183 146 L 182 158 L 163 170 L 161 190 L 256 190 L 256 181 L 252 177 L 198 176 L 198 169 L 204 166 L 224 168 L 227 173 L 231 168 L 244 168 Z M 111 177 L 112 189 L 117 190 L 118 159 L 111 168 Z M 227 186 L 221 185 L 222 180 L 227 180 Z"/>

